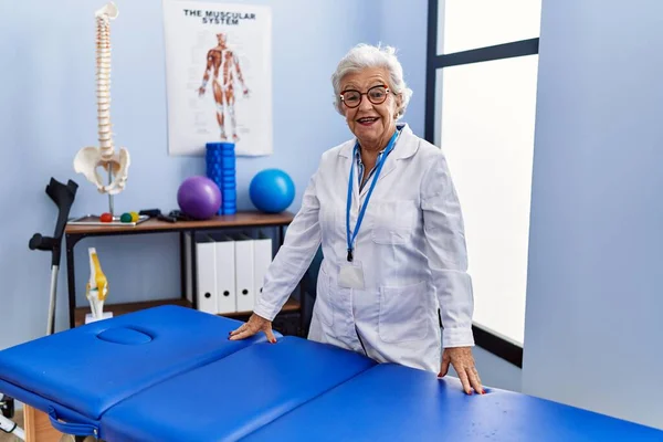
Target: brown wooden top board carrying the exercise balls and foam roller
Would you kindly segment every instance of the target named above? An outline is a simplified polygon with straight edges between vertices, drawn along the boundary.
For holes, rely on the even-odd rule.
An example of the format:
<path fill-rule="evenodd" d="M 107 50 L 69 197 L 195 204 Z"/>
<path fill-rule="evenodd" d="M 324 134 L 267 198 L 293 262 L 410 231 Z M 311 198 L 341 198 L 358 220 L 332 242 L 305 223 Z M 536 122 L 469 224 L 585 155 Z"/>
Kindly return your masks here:
<path fill-rule="evenodd" d="M 199 230 L 215 228 L 256 228 L 261 225 L 287 225 L 294 219 L 291 212 L 262 213 L 262 212 L 238 212 L 231 215 L 217 215 L 203 221 L 177 221 L 168 222 L 151 218 L 137 225 L 82 225 L 67 224 L 64 233 L 71 235 L 109 233 L 139 233 L 139 232 L 172 232 L 179 230 Z"/>

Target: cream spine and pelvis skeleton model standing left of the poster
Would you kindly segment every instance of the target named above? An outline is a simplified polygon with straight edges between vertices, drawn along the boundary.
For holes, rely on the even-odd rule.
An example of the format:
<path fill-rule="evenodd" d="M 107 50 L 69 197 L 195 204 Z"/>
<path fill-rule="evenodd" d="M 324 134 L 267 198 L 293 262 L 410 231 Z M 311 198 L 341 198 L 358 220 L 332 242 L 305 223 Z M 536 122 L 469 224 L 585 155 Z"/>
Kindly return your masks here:
<path fill-rule="evenodd" d="M 101 193 L 108 194 L 117 194 L 124 190 L 130 165 L 129 151 L 126 148 L 115 152 L 110 131 L 110 20 L 117 14 L 118 10 L 113 2 L 95 13 L 99 147 L 84 147 L 74 158 L 74 170 L 83 173 Z M 113 179 L 104 183 L 97 172 L 98 167 L 103 167 Z"/>

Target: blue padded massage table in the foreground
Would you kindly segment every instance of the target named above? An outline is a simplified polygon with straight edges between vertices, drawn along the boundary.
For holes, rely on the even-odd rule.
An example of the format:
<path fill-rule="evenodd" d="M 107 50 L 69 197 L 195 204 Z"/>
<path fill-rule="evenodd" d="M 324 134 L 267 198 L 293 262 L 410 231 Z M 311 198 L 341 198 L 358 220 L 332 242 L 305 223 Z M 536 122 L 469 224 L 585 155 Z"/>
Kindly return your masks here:
<path fill-rule="evenodd" d="M 113 442 L 663 441 L 663 431 L 160 306 L 0 351 L 0 392 Z"/>

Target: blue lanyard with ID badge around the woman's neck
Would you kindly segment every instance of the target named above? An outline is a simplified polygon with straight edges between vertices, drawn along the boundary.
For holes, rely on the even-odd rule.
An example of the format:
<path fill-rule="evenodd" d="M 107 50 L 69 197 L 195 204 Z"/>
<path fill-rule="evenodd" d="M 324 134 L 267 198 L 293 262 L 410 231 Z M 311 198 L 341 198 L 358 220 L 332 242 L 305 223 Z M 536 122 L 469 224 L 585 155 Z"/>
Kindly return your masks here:
<path fill-rule="evenodd" d="M 396 139 L 398 138 L 398 130 L 391 136 L 387 148 L 385 149 L 385 154 L 380 157 L 379 162 L 376 167 L 376 172 L 372 177 L 372 181 L 370 182 L 370 188 L 368 189 L 368 193 L 366 194 L 366 200 L 364 204 L 359 208 L 359 215 L 357 217 L 357 224 L 355 225 L 355 230 L 350 234 L 350 210 L 352 207 L 352 186 L 355 185 L 355 161 L 350 161 L 350 179 L 348 182 L 348 197 L 346 204 L 346 239 L 348 244 L 348 256 L 347 262 L 340 266 L 338 274 L 338 284 L 343 287 L 347 288 L 364 288 L 364 270 L 361 267 L 361 263 L 357 262 L 354 256 L 354 248 L 355 240 L 357 239 L 357 233 L 359 233 L 359 228 L 361 227 L 361 221 L 364 221 L 364 214 L 366 213 L 366 208 L 370 200 L 370 196 L 372 194 L 373 188 L 376 187 L 376 182 L 378 181 L 378 177 L 380 176 L 380 171 L 382 170 L 382 166 L 385 165 L 385 160 L 389 152 L 393 149 L 393 145 L 396 144 Z M 352 158 L 357 155 L 357 144 L 355 144 L 355 149 L 352 150 Z"/>

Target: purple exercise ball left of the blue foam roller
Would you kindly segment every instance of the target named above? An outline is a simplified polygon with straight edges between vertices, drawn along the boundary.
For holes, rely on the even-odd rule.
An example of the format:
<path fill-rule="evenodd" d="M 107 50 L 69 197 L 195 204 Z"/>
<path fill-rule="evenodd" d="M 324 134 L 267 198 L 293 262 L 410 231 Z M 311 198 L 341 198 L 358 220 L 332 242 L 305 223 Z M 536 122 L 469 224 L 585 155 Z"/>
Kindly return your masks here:
<path fill-rule="evenodd" d="M 177 203 L 185 214 L 198 220 L 208 220 L 221 208 L 221 190 L 207 177 L 190 177 L 180 185 Z"/>

